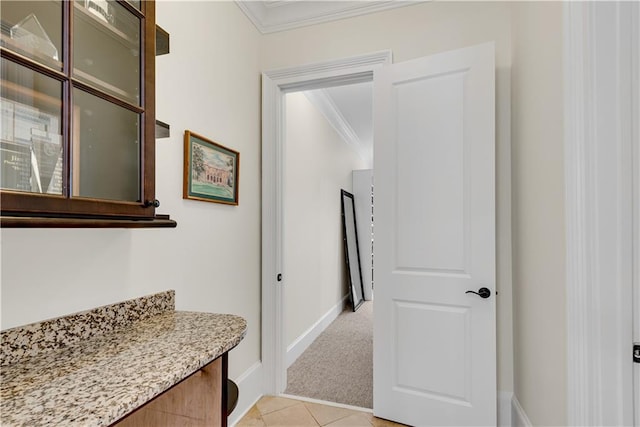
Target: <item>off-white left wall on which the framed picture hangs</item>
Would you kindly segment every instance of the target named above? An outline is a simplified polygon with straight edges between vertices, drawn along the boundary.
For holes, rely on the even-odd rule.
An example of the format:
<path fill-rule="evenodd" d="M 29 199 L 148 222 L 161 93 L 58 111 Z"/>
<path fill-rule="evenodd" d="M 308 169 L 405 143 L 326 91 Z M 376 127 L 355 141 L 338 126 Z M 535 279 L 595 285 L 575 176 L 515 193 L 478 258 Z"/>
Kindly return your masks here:
<path fill-rule="evenodd" d="M 2 229 L 2 329 L 176 290 L 182 310 L 235 313 L 249 330 L 232 378 L 260 359 L 259 33 L 231 2 L 157 2 L 160 213 L 176 229 Z M 237 207 L 182 199 L 183 133 L 240 152 Z"/>

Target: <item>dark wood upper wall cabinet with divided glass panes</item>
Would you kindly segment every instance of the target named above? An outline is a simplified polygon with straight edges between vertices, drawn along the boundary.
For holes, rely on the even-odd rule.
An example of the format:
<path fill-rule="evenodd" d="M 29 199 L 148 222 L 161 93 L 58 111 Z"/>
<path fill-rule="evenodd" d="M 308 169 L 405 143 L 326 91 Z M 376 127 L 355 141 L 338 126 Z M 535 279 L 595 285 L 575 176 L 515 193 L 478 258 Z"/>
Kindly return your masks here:
<path fill-rule="evenodd" d="M 2 225 L 153 220 L 154 1 L 3 0 L 1 19 Z"/>

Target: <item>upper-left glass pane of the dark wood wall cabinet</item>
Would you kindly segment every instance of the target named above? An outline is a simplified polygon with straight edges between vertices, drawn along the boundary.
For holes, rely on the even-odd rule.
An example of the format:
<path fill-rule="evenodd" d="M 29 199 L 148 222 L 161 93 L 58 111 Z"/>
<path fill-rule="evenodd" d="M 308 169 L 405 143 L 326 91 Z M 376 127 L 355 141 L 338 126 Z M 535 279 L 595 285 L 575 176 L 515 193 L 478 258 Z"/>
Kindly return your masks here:
<path fill-rule="evenodd" d="M 62 2 L 2 0 L 2 46 L 62 69 Z"/>

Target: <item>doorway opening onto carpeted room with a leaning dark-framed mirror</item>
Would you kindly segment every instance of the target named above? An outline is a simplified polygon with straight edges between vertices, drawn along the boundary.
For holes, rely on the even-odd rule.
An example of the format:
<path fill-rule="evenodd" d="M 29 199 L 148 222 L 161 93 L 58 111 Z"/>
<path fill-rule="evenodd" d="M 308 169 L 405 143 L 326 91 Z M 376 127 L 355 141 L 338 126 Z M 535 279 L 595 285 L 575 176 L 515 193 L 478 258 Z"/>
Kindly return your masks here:
<path fill-rule="evenodd" d="M 373 408 L 372 104 L 371 82 L 287 93 L 283 162 L 284 394 L 367 409 Z M 360 183 L 362 173 L 367 180 L 362 171 L 368 187 Z M 362 210 L 354 205 L 362 233 L 360 255 L 350 253 L 349 265 L 358 270 L 354 283 L 360 286 L 362 272 L 369 291 L 357 311 L 349 298 L 342 190 L 354 196 L 349 200 L 369 201 Z"/>

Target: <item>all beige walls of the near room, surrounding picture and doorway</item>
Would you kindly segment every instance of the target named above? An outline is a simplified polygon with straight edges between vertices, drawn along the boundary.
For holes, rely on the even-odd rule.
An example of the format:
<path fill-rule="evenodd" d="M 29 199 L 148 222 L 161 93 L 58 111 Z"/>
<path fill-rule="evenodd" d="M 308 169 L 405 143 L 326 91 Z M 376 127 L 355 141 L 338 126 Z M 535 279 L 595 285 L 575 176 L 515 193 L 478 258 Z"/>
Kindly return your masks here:
<path fill-rule="evenodd" d="M 157 9 L 171 34 L 171 53 L 157 60 L 157 116 L 172 134 L 157 144 L 157 196 L 178 228 L 0 230 L 1 327 L 175 289 L 178 309 L 248 320 L 230 356 L 236 378 L 260 360 L 260 71 L 385 49 L 399 62 L 495 41 L 498 384 L 515 382 L 534 424 L 565 424 L 562 7 L 428 2 L 266 36 L 231 2 Z M 240 151 L 238 207 L 182 200 L 185 129 Z"/>

